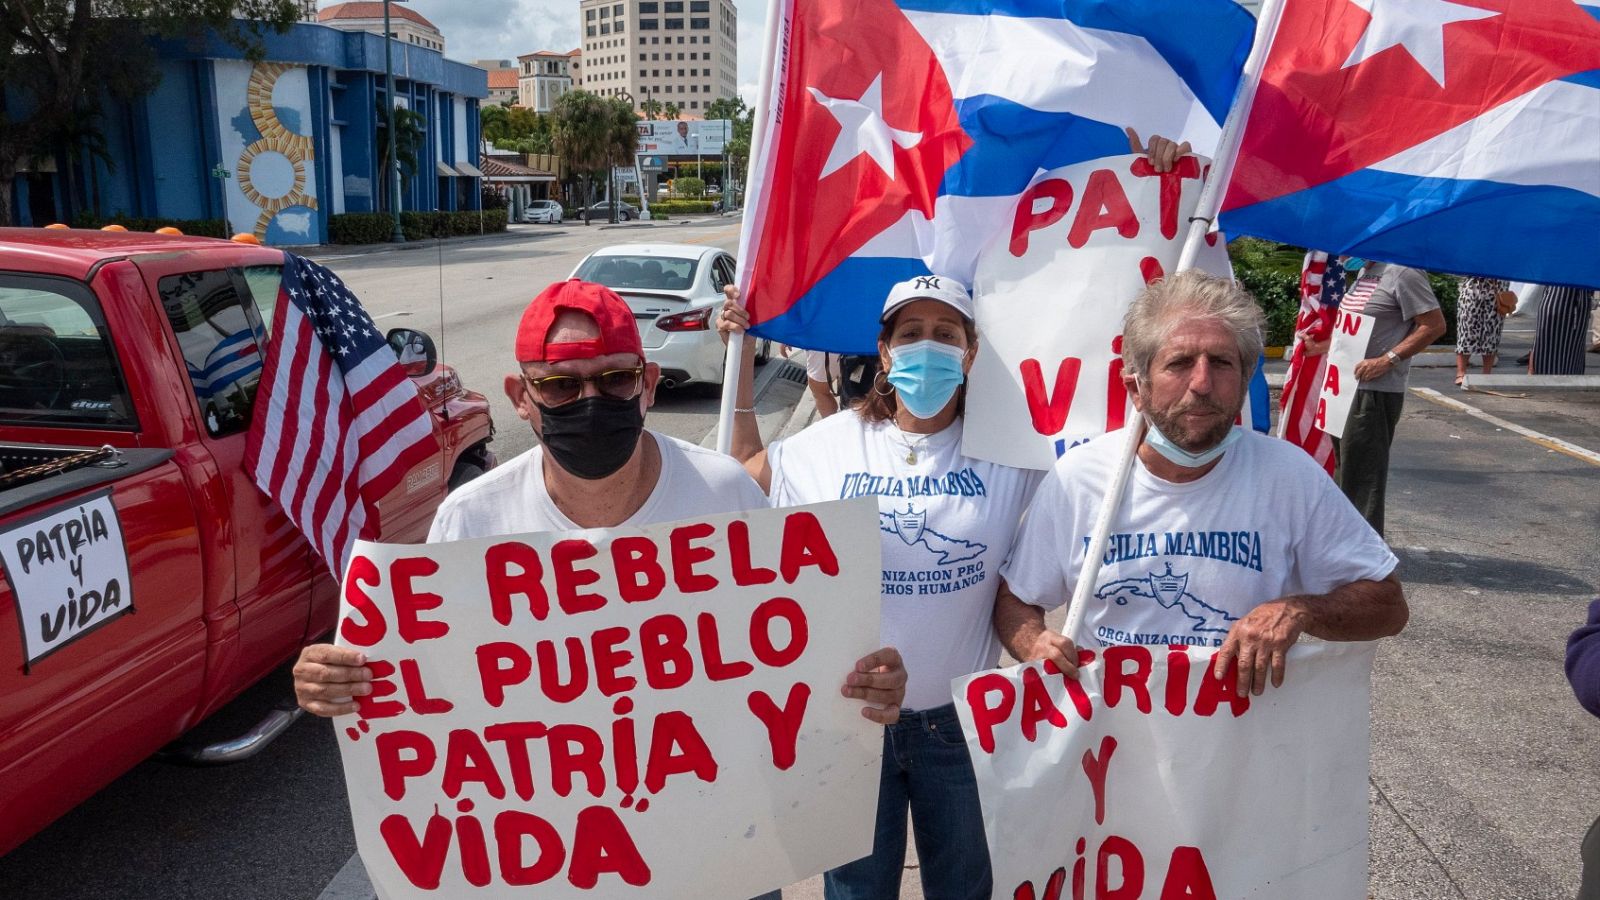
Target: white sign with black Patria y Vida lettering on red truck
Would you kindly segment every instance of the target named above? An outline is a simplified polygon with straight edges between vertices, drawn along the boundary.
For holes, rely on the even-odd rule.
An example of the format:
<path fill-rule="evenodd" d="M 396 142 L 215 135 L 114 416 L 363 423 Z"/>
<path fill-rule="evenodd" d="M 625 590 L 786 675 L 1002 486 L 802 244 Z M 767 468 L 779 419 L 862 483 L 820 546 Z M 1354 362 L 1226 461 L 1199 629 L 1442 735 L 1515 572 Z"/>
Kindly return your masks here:
<path fill-rule="evenodd" d="M 133 612 L 122 519 L 101 490 L 0 532 L 26 665 Z"/>

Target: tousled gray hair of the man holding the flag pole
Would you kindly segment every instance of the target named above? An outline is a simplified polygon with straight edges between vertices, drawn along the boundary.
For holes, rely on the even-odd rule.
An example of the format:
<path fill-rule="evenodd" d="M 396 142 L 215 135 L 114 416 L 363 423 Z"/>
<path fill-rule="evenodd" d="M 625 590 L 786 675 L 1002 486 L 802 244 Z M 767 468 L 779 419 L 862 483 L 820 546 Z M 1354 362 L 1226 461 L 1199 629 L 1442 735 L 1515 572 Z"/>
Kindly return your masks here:
<path fill-rule="evenodd" d="M 1146 378 L 1173 328 L 1203 319 L 1221 322 L 1234 333 L 1240 372 L 1248 383 L 1261 359 L 1266 317 L 1248 290 L 1232 279 L 1198 269 L 1150 282 L 1128 306 L 1128 315 L 1122 320 L 1123 370 Z"/>

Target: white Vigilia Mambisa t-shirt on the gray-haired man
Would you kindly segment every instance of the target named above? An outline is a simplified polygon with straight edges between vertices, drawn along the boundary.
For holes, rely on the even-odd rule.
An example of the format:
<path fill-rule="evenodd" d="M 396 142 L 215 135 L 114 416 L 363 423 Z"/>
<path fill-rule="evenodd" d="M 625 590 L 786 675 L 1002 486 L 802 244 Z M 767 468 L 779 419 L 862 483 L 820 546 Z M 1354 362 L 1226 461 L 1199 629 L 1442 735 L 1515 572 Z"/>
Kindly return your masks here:
<path fill-rule="evenodd" d="M 1019 599 L 1045 609 L 1072 599 L 1123 440 L 1115 431 L 1067 450 L 1045 477 L 1000 570 Z M 1187 484 L 1134 463 L 1085 642 L 1218 647 L 1262 602 L 1376 581 L 1397 562 L 1304 450 L 1245 431 Z"/>

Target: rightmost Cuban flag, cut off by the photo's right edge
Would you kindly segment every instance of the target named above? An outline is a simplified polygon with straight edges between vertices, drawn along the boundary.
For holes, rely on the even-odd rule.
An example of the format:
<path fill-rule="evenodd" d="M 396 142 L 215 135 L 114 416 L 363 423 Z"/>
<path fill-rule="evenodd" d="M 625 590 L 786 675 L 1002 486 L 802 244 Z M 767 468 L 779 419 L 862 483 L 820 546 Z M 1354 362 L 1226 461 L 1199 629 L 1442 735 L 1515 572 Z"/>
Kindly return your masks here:
<path fill-rule="evenodd" d="M 1600 287 L 1600 5 L 1283 0 L 1229 234 Z"/>

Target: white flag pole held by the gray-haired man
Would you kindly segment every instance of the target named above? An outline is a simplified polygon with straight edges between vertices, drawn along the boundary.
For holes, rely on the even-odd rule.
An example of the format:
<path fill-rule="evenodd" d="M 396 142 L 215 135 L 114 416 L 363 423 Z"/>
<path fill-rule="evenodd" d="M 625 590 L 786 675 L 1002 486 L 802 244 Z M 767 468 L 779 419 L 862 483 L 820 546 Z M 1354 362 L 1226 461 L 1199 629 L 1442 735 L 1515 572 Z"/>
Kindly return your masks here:
<path fill-rule="evenodd" d="M 1189 218 L 1189 234 L 1184 235 L 1184 248 L 1178 256 L 1176 271 L 1179 272 L 1195 267 L 1205 235 L 1211 231 L 1211 223 L 1216 221 L 1216 213 L 1222 205 L 1222 191 L 1234 173 L 1234 160 L 1238 157 L 1245 119 L 1250 117 L 1250 106 L 1256 99 L 1256 86 L 1261 83 L 1261 66 L 1267 59 L 1267 51 L 1272 50 L 1272 38 L 1278 32 L 1278 19 L 1282 18 L 1283 0 L 1266 0 L 1261 5 L 1261 18 L 1256 19 L 1256 40 L 1250 46 L 1250 56 L 1245 59 L 1238 90 L 1234 91 L 1234 106 L 1229 107 L 1227 120 L 1222 123 L 1222 136 L 1218 139 L 1211 171 L 1200 187 L 1195 215 Z M 1080 647 L 1083 642 L 1078 639 L 1078 631 L 1083 626 L 1088 601 L 1094 594 L 1094 581 L 1099 578 L 1099 560 L 1106 557 L 1106 546 L 1110 543 L 1117 508 L 1122 506 L 1122 495 L 1128 488 L 1128 474 L 1133 471 L 1133 461 L 1139 455 L 1139 444 L 1144 440 L 1144 416 L 1131 415 L 1125 416 L 1123 421 L 1130 421 L 1131 424 L 1126 426 L 1128 434 L 1126 440 L 1123 440 L 1122 460 L 1117 463 L 1110 487 L 1106 490 L 1106 498 L 1101 501 L 1099 512 L 1094 517 L 1094 533 L 1090 536 L 1088 551 L 1083 554 L 1083 565 L 1078 567 L 1078 583 L 1072 589 L 1072 605 L 1067 607 L 1067 621 L 1061 626 L 1061 634 Z"/>

